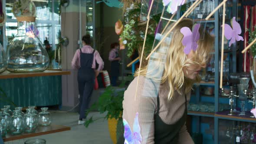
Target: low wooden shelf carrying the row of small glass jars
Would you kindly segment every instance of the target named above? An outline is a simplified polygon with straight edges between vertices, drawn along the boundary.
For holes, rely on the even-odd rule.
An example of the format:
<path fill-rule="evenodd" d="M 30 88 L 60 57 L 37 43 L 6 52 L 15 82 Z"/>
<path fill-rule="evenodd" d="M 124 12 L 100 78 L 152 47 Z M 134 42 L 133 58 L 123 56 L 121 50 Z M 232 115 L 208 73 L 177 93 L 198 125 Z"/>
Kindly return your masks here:
<path fill-rule="evenodd" d="M 21 134 L 21 135 L 7 134 L 6 137 L 3 137 L 3 141 L 14 141 L 14 140 L 27 138 L 27 137 L 36 137 L 39 135 L 52 134 L 52 133 L 56 133 L 56 132 L 69 131 L 69 130 L 70 130 L 70 127 L 52 124 L 52 125 L 46 126 L 46 127 L 42 127 L 42 126 L 38 127 L 36 132 L 31 133 L 31 134 Z"/>

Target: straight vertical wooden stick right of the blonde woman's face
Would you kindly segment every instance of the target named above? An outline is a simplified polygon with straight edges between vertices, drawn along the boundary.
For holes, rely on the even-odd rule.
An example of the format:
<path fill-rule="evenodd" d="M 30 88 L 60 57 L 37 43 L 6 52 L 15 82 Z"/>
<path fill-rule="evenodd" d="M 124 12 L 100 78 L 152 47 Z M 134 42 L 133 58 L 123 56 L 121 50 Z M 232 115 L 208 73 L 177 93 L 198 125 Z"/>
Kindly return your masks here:
<path fill-rule="evenodd" d="M 222 81 L 223 81 L 225 15 L 226 15 L 226 3 L 223 3 L 223 20 L 222 20 L 222 34 L 221 34 L 221 59 L 220 59 L 220 88 L 222 88 Z"/>

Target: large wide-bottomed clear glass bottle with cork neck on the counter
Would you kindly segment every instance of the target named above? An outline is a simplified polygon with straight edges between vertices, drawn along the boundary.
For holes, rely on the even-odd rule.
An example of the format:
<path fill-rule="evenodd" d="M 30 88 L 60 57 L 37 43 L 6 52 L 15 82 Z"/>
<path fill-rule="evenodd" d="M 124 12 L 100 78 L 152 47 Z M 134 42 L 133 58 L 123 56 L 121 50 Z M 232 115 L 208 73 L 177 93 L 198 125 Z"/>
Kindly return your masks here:
<path fill-rule="evenodd" d="M 35 5 L 31 0 L 13 4 L 18 21 L 18 34 L 7 46 L 7 70 L 10 72 L 42 72 L 48 68 L 49 56 L 37 37 Z"/>

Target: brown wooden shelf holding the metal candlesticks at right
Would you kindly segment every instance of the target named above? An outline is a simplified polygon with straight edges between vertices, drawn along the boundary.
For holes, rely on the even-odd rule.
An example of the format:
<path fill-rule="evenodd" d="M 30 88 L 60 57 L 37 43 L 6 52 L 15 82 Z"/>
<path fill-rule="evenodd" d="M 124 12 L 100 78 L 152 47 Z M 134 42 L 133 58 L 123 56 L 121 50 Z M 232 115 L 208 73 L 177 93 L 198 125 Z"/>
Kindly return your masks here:
<path fill-rule="evenodd" d="M 215 114 L 215 117 L 220 119 L 227 119 L 227 120 L 233 120 L 233 121 L 246 121 L 246 122 L 256 122 L 256 118 L 250 118 L 249 116 L 251 113 L 249 111 L 246 111 L 245 116 L 239 116 L 237 115 L 227 115 L 229 111 L 220 111 Z"/>

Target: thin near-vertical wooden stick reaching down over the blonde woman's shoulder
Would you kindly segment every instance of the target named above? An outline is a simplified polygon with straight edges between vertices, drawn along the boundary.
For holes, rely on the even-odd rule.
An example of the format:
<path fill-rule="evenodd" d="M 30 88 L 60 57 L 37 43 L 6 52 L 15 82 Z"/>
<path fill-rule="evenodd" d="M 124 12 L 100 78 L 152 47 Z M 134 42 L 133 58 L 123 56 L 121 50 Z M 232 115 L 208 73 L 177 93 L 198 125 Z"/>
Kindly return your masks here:
<path fill-rule="evenodd" d="M 143 47 L 142 47 L 142 52 L 141 52 L 141 60 L 140 60 L 140 66 L 139 66 L 138 76 L 140 76 L 140 73 L 141 73 L 142 58 L 143 58 L 143 53 L 144 53 L 146 38 L 147 38 L 147 34 L 148 34 L 148 23 L 149 23 L 149 20 L 150 20 L 150 13 L 151 13 L 151 9 L 152 9 L 153 3 L 154 3 L 154 0 L 151 1 L 150 7 L 149 7 L 149 10 L 148 10 L 147 27 L 146 27 L 146 32 L 145 32 L 144 42 L 143 42 Z M 139 78 L 137 79 L 136 92 L 135 92 L 135 99 L 136 99 L 137 93 L 138 93 L 138 84 L 139 84 Z"/>

